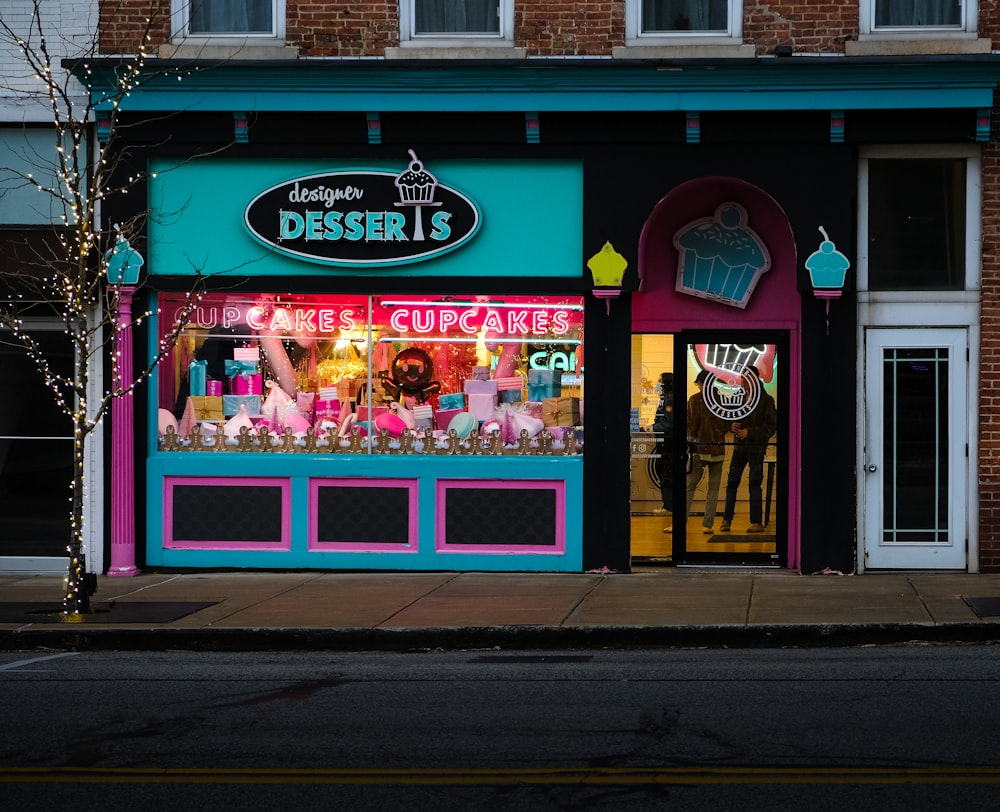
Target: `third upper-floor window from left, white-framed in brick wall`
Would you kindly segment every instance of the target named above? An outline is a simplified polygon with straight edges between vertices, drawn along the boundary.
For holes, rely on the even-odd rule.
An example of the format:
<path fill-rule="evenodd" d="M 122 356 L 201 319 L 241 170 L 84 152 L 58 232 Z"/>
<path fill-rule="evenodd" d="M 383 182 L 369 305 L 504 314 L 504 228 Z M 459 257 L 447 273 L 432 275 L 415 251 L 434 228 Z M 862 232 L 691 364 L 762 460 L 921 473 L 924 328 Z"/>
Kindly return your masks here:
<path fill-rule="evenodd" d="M 742 38 L 740 0 L 626 0 L 629 45 L 728 42 Z"/>

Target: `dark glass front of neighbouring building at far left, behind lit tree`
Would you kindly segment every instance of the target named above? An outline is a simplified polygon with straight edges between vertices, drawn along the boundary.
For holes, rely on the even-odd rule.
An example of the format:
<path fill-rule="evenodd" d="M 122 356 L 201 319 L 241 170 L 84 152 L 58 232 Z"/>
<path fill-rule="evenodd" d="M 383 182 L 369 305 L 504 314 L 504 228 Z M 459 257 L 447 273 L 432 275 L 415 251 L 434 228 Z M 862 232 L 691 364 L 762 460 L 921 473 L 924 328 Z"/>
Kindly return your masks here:
<path fill-rule="evenodd" d="M 73 377 L 73 351 L 61 332 L 32 333 L 52 374 Z M 73 440 L 38 369 L 0 337 L 0 556 L 65 556 Z"/>

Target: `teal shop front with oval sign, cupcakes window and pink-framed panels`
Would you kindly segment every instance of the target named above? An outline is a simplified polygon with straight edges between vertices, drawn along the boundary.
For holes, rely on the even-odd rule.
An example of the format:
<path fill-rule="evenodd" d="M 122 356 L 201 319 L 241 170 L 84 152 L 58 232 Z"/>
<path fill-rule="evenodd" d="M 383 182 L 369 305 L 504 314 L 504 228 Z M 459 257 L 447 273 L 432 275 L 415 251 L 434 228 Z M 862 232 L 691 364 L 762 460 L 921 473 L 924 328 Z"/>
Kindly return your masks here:
<path fill-rule="evenodd" d="M 582 568 L 581 166 L 400 157 L 154 163 L 147 564 Z"/>

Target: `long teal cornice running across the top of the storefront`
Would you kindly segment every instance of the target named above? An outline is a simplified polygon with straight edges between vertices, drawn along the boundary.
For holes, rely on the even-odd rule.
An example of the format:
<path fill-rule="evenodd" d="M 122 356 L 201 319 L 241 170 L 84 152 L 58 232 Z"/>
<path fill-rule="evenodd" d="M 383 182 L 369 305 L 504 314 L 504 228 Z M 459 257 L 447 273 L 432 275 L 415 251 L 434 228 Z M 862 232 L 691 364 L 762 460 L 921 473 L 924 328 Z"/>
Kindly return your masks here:
<path fill-rule="evenodd" d="M 151 60 L 130 111 L 643 111 L 992 107 L 1000 58 L 847 57 L 702 62 Z M 93 66 L 100 108 L 117 60 Z M 193 70 L 197 67 L 197 70 Z M 178 73 L 183 68 L 183 77 Z M 161 72 L 154 74 L 154 72 Z M 82 72 L 78 71 L 82 76 Z"/>

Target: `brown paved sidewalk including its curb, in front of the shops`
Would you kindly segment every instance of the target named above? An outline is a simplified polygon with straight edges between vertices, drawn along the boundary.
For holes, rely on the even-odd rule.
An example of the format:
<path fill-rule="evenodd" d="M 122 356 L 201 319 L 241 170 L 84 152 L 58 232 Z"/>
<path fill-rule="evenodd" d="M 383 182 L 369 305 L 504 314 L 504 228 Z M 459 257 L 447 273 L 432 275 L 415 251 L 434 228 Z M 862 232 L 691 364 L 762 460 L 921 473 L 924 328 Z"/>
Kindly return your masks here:
<path fill-rule="evenodd" d="M 61 600 L 61 576 L 0 574 L 0 650 L 1000 641 L 1000 574 L 151 573 L 101 576 L 81 623 Z"/>

